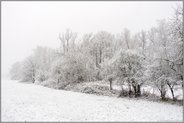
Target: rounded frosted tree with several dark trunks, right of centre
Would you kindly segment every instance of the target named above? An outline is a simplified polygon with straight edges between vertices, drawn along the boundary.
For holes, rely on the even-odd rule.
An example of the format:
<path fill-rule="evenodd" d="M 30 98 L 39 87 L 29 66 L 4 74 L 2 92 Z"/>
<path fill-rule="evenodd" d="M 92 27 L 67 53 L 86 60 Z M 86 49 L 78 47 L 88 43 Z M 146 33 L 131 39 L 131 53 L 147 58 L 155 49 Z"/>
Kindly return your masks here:
<path fill-rule="evenodd" d="M 129 96 L 132 94 L 132 88 L 135 97 L 140 96 L 143 84 L 143 56 L 134 50 L 121 51 L 114 64 L 116 76 L 121 79 L 122 84 L 129 87 Z"/>

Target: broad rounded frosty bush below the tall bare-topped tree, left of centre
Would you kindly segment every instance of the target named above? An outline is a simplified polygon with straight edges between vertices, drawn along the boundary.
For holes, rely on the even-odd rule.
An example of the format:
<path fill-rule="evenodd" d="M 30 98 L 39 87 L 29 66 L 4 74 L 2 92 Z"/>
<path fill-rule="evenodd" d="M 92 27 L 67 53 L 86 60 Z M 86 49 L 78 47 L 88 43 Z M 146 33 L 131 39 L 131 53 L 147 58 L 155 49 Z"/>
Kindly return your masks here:
<path fill-rule="evenodd" d="M 60 81 L 73 83 L 87 81 L 90 76 L 90 65 L 86 62 L 87 57 L 82 53 L 67 54 L 54 61 L 52 75 Z"/>

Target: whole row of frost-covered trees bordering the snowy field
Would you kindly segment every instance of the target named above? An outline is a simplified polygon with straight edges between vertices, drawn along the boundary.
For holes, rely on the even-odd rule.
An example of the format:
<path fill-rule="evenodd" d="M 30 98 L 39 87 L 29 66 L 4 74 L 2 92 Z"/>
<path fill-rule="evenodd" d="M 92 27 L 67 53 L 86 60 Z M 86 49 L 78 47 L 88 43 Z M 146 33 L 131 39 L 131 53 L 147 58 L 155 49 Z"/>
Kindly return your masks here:
<path fill-rule="evenodd" d="M 162 99 L 167 89 L 175 100 L 175 86 L 183 86 L 183 9 L 178 6 L 171 19 L 161 20 L 149 31 L 131 34 L 128 29 L 85 34 L 67 29 L 59 34 L 61 48 L 37 47 L 31 56 L 16 62 L 12 79 L 58 84 L 105 80 L 128 87 L 128 95 L 138 97 L 141 87 L 156 87 Z M 80 43 L 79 43 L 80 41 Z M 65 86 L 66 86 L 65 85 Z"/>

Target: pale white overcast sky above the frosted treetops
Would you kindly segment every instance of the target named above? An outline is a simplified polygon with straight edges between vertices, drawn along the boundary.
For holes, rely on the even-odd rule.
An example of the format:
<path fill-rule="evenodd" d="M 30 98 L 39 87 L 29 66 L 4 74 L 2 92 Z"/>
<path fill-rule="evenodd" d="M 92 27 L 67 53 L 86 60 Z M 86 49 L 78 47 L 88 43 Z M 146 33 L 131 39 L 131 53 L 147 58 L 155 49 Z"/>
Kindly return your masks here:
<path fill-rule="evenodd" d="M 37 45 L 58 48 L 59 32 L 66 28 L 79 35 L 124 28 L 132 33 L 148 30 L 156 21 L 171 17 L 182 2 L 10 2 L 1 3 L 2 73 L 32 53 Z"/>

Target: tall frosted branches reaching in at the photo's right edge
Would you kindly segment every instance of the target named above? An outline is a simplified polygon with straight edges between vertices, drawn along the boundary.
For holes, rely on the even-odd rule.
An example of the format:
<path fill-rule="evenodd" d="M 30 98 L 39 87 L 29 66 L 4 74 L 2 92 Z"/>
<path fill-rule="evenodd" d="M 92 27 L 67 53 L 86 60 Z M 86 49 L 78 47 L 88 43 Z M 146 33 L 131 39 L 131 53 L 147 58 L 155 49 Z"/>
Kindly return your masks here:
<path fill-rule="evenodd" d="M 169 21 L 170 25 L 170 38 L 171 42 L 169 45 L 169 55 L 171 56 L 168 60 L 172 64 L 170 68 L 174 70 L 180 80 L 183 80 L 183 7 L 177 6 L 175 8 L 175 14 Z M 172 49 L 172 50 L 171 50 Z"/>

